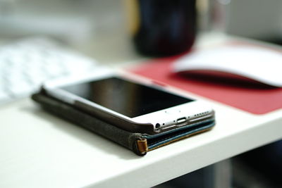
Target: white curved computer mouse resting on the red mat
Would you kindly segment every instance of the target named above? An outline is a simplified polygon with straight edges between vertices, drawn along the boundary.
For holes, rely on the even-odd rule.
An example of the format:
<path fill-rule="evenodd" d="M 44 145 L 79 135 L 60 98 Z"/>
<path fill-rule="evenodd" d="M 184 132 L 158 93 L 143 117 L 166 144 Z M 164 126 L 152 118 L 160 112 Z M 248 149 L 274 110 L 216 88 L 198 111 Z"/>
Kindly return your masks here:
<path fill-rule="evenodd" d="M 182 56 L 173 63 L 175 73 L 214 73 L 243 77 L 282 87 L 282 52 L 260 46 L 216 46 Z M 231 76 L 231 77 L 232 77 Z"/>

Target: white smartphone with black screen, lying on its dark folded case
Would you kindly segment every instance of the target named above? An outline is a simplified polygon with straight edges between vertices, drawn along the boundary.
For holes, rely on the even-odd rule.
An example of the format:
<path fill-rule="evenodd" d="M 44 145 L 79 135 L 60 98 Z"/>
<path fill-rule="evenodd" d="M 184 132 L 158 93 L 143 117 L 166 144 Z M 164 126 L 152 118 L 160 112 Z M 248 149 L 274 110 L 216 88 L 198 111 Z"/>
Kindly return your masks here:
<path fill-rule="evenodd" d="M 151 80 L 100 74 L 46 83 L 49 96 L 129 132 L 157 134 L 214 118 L 203 102 Z"/>

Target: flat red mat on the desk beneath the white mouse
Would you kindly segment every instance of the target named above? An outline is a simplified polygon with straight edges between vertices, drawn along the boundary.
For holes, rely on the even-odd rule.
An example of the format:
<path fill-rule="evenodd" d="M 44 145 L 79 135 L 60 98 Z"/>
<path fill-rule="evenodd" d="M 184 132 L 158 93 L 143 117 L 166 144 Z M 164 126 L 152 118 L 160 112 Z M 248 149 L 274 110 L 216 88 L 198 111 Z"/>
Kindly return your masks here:
<path fill-rule="evenodd" d="M 282 108 L 282 88 L 210 80 L 207 82 L 207 80 L 172 73 L 171 65 L 179 57 L 152 60 L 131 69 L 130 72 L 250 113 L 264 114 Z"/>

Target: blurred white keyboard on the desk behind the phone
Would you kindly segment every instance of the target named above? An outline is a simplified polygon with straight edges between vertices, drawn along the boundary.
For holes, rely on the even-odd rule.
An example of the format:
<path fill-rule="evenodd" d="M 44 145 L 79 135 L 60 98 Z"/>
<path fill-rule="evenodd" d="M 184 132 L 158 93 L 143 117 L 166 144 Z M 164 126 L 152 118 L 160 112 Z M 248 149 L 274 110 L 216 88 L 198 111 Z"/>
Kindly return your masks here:
<path fill-rule="evenodd" d="M 0 47 L 0 105 L 32 94 L 47 80 L 90 73 L 97 62 L 44 38 Z"/>

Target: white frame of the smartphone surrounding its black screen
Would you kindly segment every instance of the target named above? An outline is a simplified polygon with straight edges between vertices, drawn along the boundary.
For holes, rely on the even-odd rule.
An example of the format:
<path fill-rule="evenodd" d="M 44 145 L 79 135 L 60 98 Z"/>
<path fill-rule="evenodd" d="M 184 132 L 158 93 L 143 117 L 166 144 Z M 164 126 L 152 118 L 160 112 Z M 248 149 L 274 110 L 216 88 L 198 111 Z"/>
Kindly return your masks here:
<path fill-rule="evenodd" d="M 123 80 L 129 80 L 130 82 L 136 82 L 137 84 L 144 84 L 147 87 L 152 87 L 154 89 L 188 98 L 188 96 L 184 96 L 169 87 L 160 87 L 152 80 L 145 78 L 140 79 L 140 77 L 136 77 L 128 73 L 125 75 L 111 70 L 100 71 L 99 73 L 95 73 L 95 75 L 84 75 L 79 79 L 74 77 L 46 82 L 42 87 L 49 96 L 64 101 L 72 106 L 81 108 L 81 110 L 92 113 L 93 115 L 98 115 L 105 121 L 109 121 L 109 123 L 113 123 L 116 126 L 130 132 L 157 134 L 159 132 L 165 132 L 166 130 L 171 130 L 176 127 L 189 125 L 200 120 L 214 117 L 214 111 L 212 108 L 210 108 L 207 104 L 193 99 L 194 101 L 190 101 L 185 104 L 129 118 L 126 115 L 117 113 L 109 108 L 100 106 L 99 104 L 95 104 L 92 101 L 88 101 L 87 99 L 83 99 L 80 96 L 76 96 L 75 94 L 71 94 L 70 92 L 66 92 L 63 89 L 58 88 L 63 85 L 102 80 L 108 77 L 121 77 Z"/>

